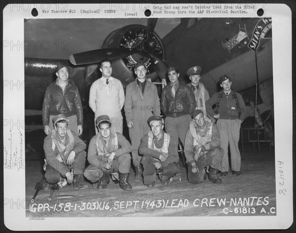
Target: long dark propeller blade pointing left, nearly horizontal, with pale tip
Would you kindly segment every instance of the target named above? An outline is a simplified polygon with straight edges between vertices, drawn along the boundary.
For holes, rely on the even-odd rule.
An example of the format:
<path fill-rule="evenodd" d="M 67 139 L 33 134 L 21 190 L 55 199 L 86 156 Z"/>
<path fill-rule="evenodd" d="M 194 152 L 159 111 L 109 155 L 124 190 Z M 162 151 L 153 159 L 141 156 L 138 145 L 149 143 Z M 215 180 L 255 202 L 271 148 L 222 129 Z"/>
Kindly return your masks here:
<path fill-rule="evenodd" d="M 69 60 L 73 65 L 86 65 L 99 63 L 103 59 L 115 60 L 134 54 L 137 49 L 102 48 L 76 53 L 70 56 Z"/>

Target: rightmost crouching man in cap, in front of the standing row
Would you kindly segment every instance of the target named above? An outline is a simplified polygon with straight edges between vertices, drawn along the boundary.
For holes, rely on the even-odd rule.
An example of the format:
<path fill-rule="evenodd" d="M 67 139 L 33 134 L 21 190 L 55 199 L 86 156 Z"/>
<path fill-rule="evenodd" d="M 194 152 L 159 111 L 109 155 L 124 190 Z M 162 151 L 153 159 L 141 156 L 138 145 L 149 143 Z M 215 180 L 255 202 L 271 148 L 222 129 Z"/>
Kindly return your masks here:
<path fill-rule="evenodd" d="M 220 147 L 219 131 L 210 119 L 204 118 L 202 110 L 194 110 L 192 121 L 185 138 L 185 157 L 188 163 L 188 180 L 198 184 L 205 180 L 205 167 L 209 167 L 209 180 L 214 184 L 222 183 L 217 178 L 224 151 Z"/>

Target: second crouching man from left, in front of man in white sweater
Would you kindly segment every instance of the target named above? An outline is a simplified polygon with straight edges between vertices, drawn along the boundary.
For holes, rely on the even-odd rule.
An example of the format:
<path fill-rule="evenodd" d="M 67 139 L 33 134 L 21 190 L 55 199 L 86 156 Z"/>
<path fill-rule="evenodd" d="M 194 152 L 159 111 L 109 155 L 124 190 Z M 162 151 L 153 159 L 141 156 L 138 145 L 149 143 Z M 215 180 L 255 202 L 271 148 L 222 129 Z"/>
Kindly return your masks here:
<path fill-rule="evenodd" d="M 97 189 L 106 189 L 110 174 L 119 172 L 119 185 L 124 191 L 131 190 L 128 183 L 132 151 L 131 144 L 125 137 L 111 129 L 109 116 L 102 115 L 96 119 L 99 133 L 92 137 L 88 146 L 87 159 L 90 165 L 84 176 L 93 183 L 98 182 Z"/>

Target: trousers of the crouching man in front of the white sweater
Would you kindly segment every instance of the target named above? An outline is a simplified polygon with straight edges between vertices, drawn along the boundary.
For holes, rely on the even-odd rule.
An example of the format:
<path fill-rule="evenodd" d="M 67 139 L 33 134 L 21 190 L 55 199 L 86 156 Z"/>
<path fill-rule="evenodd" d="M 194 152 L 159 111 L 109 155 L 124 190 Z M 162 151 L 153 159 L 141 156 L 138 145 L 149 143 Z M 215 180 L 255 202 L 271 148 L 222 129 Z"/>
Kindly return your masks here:
<path fill-rule="evenodd" d="M 126 174 L 130 172 L 131 167 L 131 155 L 124 154 L 119 156 L 116 159 L 113 159 L 112 166 L 110 169 L 105 168 L 104 166 L 107 164 L 107 160 L 98 159 L 100 161 L 99 166 L 90 164 L 84 172 L 84 177 L 87 178 L 92 183 L 96 183 L 103 176 L 103 173 L 115 173 L 119 172 L 122 174 Z"/>

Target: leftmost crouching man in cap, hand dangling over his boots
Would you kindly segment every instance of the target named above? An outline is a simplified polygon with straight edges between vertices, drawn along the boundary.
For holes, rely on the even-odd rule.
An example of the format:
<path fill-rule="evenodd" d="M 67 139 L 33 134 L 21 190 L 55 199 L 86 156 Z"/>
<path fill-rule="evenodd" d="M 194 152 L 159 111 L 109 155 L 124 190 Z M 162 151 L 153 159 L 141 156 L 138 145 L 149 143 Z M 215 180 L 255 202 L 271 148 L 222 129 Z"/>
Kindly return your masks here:
<path fill-rule="evenodd" d="M 62 177 L 66 177 L 69 184 L 73 183 L 75 189 L 87 188 L 82 175 L 85 169 L 86 145 L 74 131 L 68 129 L 68 121 L 63 114 L 55 116 L 54 129 L 44 139 L 43 148 L 47 163 L 44 175 L 46 182 L 43 182 L 45 190 L 49 186 L 48 183 L 65 184 Z"/>

